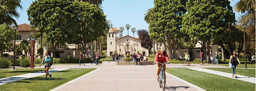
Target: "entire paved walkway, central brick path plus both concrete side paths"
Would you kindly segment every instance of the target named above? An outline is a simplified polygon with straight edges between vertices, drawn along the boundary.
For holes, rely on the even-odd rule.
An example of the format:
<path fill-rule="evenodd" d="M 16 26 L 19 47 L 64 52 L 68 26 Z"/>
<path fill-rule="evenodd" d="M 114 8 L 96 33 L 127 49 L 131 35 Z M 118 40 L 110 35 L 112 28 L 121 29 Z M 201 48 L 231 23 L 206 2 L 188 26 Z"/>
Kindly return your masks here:
<path fill-rule="evenodd" d="M 44 67 L 35 67 L 44 68 Z M 124 65 L 124 66 L 109 66 L 99 64 L 97 66 L 86 64 L 79 66 L 78 64 L 67 65 L 53 65 L 49 73 L 66 70 L 69 68 L 98 68 L 90 73 L 87 73 L 77 79 L 71 80 L 51 91 L 162 91 L 159 87 L 157 79 L 155 79 L 157 67 L 156 65 Z M 227 66 L 215 65 L 200 65 L 191 64 L 191 66 L 182 66 L 182 64 L 167 64 L 166 68 L 190 68 L 192 70 L 215 72 L 212 74 L 221 75 L 226 74 L 219 71 L 207 70 L 202 68 L 229 68 Z M 33 75 L 34 74 L 34 75 Z M 0 84 L 14 82 L 21 79 L 27 79 L 45 75 L 44 71 L 18 75 L 14 77 L 7 77 L 0 79 Z M 231 77 L 230 73 L 223 75 L 224 77 Z M 239 78 L 240 77 L 240 78 Z M 5 79 L 5 80 L 4 80 Z M 7 79 L 7 80 L 6 80 Z M 242 77 L 238 75 L 238 80 L 249 79 L 254 80 L 254 77 Z M 252 82 L 253 83 L 253 82 Z M 166 91 L 205 91 L 185 80 L 179 79 L 174 75 L 166 73 Z"/>

